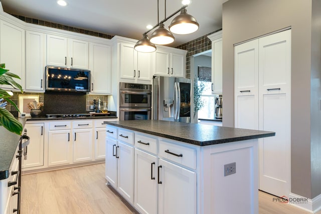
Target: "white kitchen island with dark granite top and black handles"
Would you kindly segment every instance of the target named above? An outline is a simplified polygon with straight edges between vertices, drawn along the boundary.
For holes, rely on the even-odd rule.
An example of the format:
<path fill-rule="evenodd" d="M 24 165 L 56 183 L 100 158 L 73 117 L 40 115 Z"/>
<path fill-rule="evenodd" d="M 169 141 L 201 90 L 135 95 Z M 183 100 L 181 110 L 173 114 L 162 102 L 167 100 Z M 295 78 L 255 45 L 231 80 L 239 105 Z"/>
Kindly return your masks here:
<path fill-rule="evenodd" d="M 106 179 L 141 213 L 258 213 L 258 140 L 274 132 L 108 121 Z"/>

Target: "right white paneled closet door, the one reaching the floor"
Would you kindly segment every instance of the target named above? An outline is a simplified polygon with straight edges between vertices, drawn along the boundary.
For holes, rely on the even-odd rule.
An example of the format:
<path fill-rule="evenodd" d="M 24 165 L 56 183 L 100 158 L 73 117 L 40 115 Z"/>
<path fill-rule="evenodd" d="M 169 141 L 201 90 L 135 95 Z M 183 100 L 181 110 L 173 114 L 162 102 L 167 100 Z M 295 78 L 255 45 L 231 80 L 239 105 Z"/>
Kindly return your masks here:
<path fill-rule="evenodd" d="M 291 30 L 259 39 L 259 188 L 277 196 L 290 193 Z"/>

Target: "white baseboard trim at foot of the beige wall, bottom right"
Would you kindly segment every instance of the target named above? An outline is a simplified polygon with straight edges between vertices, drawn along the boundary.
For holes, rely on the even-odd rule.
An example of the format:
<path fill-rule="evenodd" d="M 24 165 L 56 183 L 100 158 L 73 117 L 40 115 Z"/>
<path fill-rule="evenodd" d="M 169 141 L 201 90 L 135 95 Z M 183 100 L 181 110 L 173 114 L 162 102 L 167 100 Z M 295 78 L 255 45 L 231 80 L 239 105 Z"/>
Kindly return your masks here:
<path fill-rule="evenodd" d="M 304 209 L 305 211 L 308 211 L 310 213 L 315 213 L 321 210 L 321 194 L 317 195 L 312 199 L 309 199 L 290 192 L 289 204 Z"/>

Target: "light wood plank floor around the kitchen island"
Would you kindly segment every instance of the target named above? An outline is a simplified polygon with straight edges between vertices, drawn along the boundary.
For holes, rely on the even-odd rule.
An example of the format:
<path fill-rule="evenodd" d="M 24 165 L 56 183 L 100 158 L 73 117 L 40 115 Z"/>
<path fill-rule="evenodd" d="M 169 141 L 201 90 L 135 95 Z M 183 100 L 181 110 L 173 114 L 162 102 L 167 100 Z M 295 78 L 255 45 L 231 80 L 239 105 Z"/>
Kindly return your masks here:
<path fill-rule="evenodd" d="M 21 213 L 133 213 L 105 185 L 104 174 L 105 164 L 99 163 L 23 175 Z M 273 197 L 275 196 L 259 191 L 260 214 L 309 213 L 287 203 L 273 202 Z M 317 214 L 321 214 L 321 211 Z"/>

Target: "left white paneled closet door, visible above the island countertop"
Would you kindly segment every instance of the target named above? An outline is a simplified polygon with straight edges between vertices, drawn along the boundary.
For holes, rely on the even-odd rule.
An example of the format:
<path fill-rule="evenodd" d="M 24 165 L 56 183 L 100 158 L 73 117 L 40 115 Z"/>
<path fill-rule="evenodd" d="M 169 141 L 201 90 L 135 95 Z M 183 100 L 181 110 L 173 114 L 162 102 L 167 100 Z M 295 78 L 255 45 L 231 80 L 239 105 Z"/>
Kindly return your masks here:
<path fill-rule="evenodd" d="M 258 129 L 258 40 L 234 50 L 235 128 Z"/>

